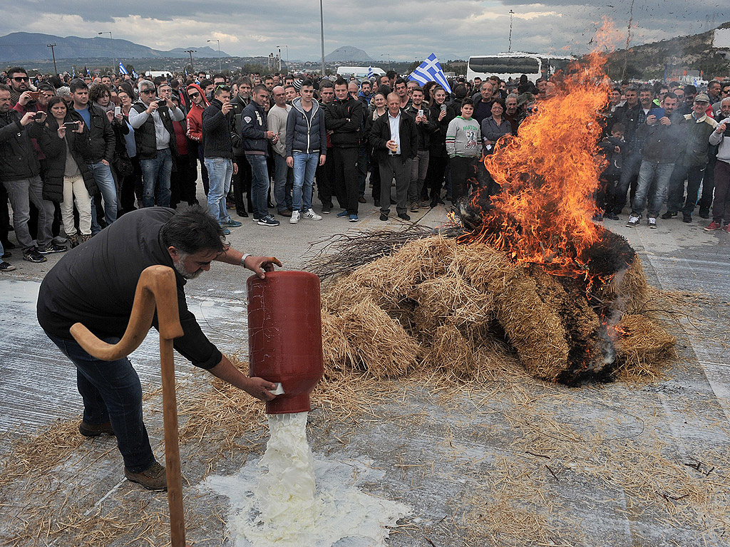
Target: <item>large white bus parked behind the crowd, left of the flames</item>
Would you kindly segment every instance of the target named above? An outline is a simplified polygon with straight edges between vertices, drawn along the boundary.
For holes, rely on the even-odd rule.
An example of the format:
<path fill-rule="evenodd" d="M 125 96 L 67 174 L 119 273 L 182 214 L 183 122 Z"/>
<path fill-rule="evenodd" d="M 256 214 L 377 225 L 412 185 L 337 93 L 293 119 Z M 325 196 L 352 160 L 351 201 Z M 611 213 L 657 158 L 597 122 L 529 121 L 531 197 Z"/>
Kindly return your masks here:
<path fill-rule="evenodd" d="M 466 66 L 466 79 L 490 76 L 500 79 L 519 79 L 526 74 L 531 82 L 540 77 L 549 77 L 575 61 L 572 56 L 538 55 L 537 53 L 497 53 L 496 55 L 473 55 Z"/>

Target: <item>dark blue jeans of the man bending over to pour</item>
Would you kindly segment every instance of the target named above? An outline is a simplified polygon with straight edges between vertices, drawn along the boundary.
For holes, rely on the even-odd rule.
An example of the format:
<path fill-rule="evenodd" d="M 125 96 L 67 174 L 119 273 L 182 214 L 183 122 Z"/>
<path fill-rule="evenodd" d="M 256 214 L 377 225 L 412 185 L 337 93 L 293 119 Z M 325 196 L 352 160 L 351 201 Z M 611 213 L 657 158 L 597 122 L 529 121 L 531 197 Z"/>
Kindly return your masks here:
<path fill-rule="evenodd" d="M 84 402 L 84 422 L 91 425 L 112 422 L 117 446 L 124 459 L 124 467 L 139 473 L 155 462 L 142 421 L 142 384 L 124 357 L 116 361 L 101 361 L 91 357 L 73 340 L 57 336 L 48 338 L 76 365 L 76 385 Z M 103 338 L 107 344 L 116 344 L 119 338 Z"/>

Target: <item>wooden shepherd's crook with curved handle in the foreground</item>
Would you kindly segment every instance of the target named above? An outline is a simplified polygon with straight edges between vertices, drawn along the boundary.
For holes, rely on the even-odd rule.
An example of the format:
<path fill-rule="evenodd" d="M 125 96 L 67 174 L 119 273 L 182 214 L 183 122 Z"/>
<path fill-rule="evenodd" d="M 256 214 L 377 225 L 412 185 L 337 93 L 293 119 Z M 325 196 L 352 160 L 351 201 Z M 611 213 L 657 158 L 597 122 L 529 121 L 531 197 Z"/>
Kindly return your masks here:
<path fill-rule="evenodd" d="M 172 341 L 183 335 L 177 309 L 177 284 L 172 268 L 150 266 L 142 271 L 134 293 L 131 317 L 124 335 L 117 344 L 99 340 L 81 323 L 71 327 L 71 334 L 89 354 L 104 361 L 126 357 L 142 344 L 152 326 L 157 308 L 160 332 L 160 362 L 162 371 L 162 408 L 165 427 L 165 468 L 167 501 L 170 510 L 170 540 L 172 547 L 185 547 L 185 514 L 183 513 L 183 483 L 180 477 L 180 446 L 177 438 L 177 401 L 175 400 L 175 369 Z"/>

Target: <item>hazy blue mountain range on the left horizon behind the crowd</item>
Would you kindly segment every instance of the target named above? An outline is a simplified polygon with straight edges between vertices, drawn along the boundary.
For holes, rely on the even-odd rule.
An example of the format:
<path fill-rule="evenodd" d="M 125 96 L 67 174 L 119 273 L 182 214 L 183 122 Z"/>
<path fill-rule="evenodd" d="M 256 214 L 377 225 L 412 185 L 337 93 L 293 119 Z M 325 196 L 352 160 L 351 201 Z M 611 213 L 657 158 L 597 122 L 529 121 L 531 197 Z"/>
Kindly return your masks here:
<path fill-rule="evenodd" d="M 135 44 L 123 39 L 110 39 L 103 36 L 80 38 L 79 36 L 53 36 L 30 32 L 13 32 L 0 36 L 0 62 L 12 61 L 50 61 L 53 58 L 48 44 L 55 44 L 56 59 L 77 58 L 114 58 L 114 59 L 152 59 L 185 58 L 185 50 L 196 50 L 198 58 L 218 57 L 218 48 L 176 47 L 174 50 L 153 50 L 151 47 Z M 221 57 L 230 57 L 221 51 Z"/>

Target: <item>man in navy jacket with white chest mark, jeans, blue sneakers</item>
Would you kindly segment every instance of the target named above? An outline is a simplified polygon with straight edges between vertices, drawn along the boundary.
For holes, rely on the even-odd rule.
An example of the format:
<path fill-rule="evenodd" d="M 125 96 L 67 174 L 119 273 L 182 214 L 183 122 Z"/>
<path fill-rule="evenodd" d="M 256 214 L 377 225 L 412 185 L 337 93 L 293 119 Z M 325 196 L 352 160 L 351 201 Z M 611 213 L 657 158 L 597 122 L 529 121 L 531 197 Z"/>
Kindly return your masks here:
<path fill-rule="evenodd" d="M 251 203 L 253 222 L 259 226 L 278 226 L 279 221 L 269 214 L 266 200 L 269 195 L 269 169 L 266 155 L 269 140 L 278 141 L 273 131 L 266 129 L 265 106 L 269 102 L 269 91 L 263 85 L 253 88 L 251 102 L 241 112 L 241 140 L 248 163 L 251 165 Z"/>

